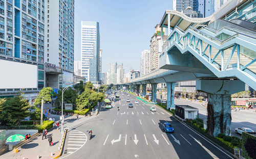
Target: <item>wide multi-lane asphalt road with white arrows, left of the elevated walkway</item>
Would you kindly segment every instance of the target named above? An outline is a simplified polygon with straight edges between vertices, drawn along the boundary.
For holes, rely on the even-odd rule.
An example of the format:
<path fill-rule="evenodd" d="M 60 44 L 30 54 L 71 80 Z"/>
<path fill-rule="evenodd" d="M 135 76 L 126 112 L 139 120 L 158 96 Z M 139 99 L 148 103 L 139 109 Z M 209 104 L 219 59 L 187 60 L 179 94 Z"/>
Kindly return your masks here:
<path fill-rule="evenodd" d="M 164 110 L 151 112 L 151 105 L 134 104 L 132 95 L 120 94 L 120 98 L 112 109 L 102 107 L 98 116 L 68 132 L 64 150 L 74 152 L 62 158 L 231 158 Z M 128 108 L 127 98 L 134 108 Z M 171 123 L 175 132 L 165 133 L 164 122 Z"/>

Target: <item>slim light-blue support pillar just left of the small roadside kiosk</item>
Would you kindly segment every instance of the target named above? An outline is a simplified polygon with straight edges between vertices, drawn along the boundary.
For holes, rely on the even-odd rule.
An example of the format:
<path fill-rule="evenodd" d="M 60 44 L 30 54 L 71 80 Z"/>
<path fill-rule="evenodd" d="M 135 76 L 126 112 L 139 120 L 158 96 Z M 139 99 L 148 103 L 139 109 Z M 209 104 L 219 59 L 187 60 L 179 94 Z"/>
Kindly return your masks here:
<path fill-rule="evenodd" d="M 167 82 L 167 109 L 172 110 L 175 109 L 174 105 L 174 88 L 175 88 L 175 82 Z"/>

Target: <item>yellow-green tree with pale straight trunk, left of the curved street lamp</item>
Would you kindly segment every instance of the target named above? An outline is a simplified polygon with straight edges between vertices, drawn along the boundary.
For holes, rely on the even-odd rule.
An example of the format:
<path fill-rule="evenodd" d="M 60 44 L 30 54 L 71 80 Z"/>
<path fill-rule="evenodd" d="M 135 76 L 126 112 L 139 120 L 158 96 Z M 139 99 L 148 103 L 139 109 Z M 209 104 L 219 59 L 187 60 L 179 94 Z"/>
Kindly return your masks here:
<path fill-rule="evenodd" d="M 44 87 L 37 95 L 37 98 L 35 99 L 34 105 L 41 105 L 41 122 L 42 125 L 42 111 L 44 109 L 44 104 L 46 101 L 52 101 L 52 88 L 51 87 Z"/>

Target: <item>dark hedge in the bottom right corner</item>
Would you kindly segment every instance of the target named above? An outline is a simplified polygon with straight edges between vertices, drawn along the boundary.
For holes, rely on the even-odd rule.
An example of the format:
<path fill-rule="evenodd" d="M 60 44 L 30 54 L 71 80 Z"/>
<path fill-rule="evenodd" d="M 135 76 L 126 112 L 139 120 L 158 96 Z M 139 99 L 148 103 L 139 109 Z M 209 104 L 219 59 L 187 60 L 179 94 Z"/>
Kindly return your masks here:
<path fill-rule="evenodd" d="M 242 133 L 242 155 L 248 159 L 256 158 L 256 137 Z"/>

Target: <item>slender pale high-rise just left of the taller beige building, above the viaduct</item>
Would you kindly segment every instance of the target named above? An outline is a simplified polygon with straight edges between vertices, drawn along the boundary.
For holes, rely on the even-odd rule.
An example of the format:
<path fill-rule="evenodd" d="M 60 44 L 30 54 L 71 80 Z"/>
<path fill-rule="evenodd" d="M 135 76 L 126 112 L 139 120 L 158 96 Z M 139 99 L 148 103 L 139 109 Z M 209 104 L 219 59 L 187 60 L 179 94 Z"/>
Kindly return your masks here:
<path fill-rule="evenodd" d="M 143 50 L 140 56 L 140 75 L 150 73 L 150 50 Z"/>

